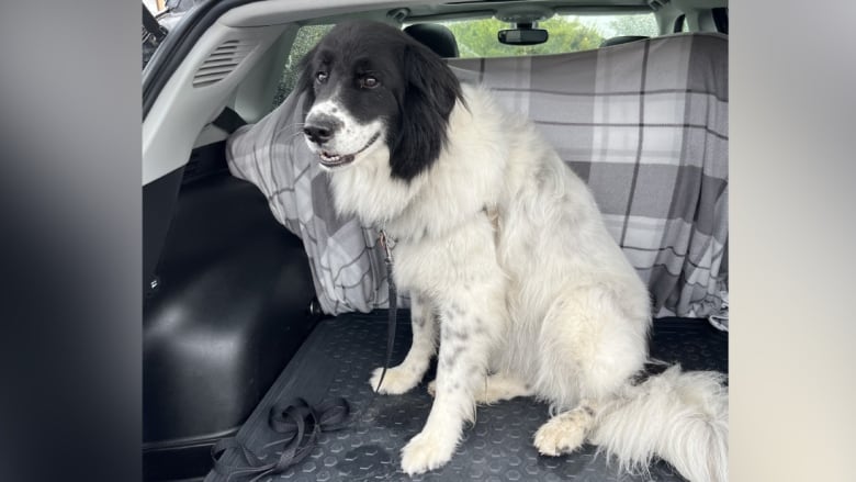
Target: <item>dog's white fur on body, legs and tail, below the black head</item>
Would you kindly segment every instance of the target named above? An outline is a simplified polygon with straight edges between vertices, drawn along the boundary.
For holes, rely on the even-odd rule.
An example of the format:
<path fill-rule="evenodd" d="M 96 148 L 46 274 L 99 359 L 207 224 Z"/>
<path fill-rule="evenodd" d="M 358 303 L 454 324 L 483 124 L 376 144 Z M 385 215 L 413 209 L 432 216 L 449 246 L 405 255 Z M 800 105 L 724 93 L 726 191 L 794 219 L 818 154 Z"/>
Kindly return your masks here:
<path fill-rule="evenodd" d="M 390 176 L 383 143 L 330 173 L 340 213 L 397 239 L 394 276 L 414 295 L 413 348 L 382 392 L 419 382 L 439 333 L 435 403 L 403 451 L 404 470 L 449 461 L 474 401 L 485 399 L 485 377 L 496 373 L 527 383 L 495 399 L 534 394 L 559 413 L 536 437 L 543 453 L 588 439 L 623 469 L 658 456 L 692 481 L 727 480 L 720 377 L 673 368 L 630 384 L 647 357 L 645 285 L 585 183 L 532 124 L 481 88 L 463 92 L 444 150 L 415 179 Z"/>

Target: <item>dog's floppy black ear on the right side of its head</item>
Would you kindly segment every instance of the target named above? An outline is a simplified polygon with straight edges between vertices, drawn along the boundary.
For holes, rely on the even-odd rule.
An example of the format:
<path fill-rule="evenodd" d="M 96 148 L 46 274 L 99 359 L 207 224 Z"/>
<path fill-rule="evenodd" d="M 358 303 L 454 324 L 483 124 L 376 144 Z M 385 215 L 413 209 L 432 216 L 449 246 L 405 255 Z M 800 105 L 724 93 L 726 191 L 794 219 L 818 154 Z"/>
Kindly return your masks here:
<path fill-rule="evenodd" d="M 392 175 L 410 180 L 440 155 L 449 114 L 462 99 L 461 83 L 440 56 L 421 44 L 404 52 L 404 98 L 401 125 L 392 149 Z"/>

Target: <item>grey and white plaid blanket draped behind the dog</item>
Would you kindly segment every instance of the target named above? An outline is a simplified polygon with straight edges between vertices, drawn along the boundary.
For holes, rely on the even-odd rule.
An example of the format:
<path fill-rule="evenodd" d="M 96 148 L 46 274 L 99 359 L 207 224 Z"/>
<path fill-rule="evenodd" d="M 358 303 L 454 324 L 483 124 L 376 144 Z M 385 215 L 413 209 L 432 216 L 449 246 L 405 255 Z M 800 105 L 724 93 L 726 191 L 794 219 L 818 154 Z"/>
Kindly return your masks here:
<path fill-rule="evenodd" d="M 594 192 L 650 288 L 657 316 L 708 316 L 728 267 L 728 37 L 678 34 L 596 51 L 450 59 L 527 115 Z M 232 173 L 258 186 L 306 247 L 325 312 L 387 304 L 378 233 L 336 215 L 290 96 L 227 144 Z M 407 305 L 406 293 L 399 300 Z"/>

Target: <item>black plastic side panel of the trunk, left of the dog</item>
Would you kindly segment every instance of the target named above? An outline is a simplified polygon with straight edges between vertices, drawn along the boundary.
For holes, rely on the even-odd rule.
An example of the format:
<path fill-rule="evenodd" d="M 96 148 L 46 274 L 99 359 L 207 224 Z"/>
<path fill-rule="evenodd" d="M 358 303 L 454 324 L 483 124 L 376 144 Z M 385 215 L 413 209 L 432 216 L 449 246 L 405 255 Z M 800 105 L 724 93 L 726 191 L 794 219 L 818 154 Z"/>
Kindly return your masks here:
<path fill-rule="evenodd" d="M 222 150 L 188 165 L 145 301 L 146 480 L 204 475 L 210 445 L 244 423 L 317 321 L 302 243 Z"/>

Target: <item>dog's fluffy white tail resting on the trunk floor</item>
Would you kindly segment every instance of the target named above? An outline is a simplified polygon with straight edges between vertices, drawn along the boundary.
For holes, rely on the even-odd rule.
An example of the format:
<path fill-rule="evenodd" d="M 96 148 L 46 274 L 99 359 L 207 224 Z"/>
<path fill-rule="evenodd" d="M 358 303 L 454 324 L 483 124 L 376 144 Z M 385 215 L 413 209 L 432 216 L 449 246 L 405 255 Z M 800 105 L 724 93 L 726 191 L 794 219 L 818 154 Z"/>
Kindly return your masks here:
<path fill-rule="evenodd" d="M 598 410 L 590 441 L 620 470 L 646 470 L 654 457 L 691 482 L 728 481 L 729 405 L 724 375 L 674 366 Z"/>

